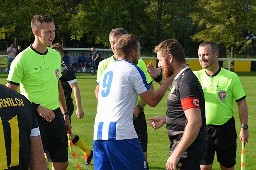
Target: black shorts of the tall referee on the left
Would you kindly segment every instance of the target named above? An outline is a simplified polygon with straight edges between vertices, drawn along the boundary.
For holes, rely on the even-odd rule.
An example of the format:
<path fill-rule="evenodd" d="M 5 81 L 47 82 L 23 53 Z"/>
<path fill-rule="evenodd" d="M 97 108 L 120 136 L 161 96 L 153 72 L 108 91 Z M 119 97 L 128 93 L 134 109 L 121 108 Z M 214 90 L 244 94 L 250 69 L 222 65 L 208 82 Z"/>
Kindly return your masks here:
<path fill-rule="evenodd" d="M 68 161 L 68 137 L 65 120 L 60 108 L 53 110 L 55 118 L 47 122 L 37 112 L 37 121 L 43 143 L 44 151 L 49 152 L 52 162 Z"/>

